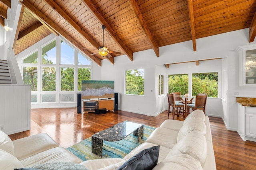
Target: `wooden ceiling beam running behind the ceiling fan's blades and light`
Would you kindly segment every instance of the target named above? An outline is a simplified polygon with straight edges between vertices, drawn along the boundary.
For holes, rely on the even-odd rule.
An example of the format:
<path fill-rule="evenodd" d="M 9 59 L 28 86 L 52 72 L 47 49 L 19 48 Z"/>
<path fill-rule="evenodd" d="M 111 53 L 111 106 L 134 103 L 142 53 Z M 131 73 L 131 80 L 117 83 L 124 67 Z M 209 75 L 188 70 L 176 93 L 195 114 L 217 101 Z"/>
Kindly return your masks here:
<path fill-rule="evenodd" d="M 66 14 L 66 12 L 64 12 L 53 0 L 44 1 L 46 2 L 46 4 L 50 6 L 50 8 L 52 8 L 52 10 L 54 10 L 60 16 L 62 16 L 64 20 L 66 20 L 70 25 L 72 25 L 72 27 L 76 29 L 76 31 L 78 31 L 85 39 L 88 40 L 88 42 L 93 47 L 95 47 L 98 50 L 100 45 L 98 45 L 98 43 L 96 43 L 84 30 L 82 30 L 82 28 L 74 20 L 72 20 L 72 18 L 70 18 L 70 16 L 68 16 L 68 14 Z M 110 63 L 114 64 L 114 57 L 112 57 L 112 55 L 108 54 L 106 59 L 108 59 Z"/>

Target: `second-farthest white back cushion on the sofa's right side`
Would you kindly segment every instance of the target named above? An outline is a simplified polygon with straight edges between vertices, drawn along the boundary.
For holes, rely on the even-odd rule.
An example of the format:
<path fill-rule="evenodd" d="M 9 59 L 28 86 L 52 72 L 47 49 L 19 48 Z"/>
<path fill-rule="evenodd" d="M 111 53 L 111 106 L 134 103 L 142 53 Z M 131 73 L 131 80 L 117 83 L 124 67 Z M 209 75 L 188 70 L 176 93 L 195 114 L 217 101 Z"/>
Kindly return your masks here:
<path fill-rule="evenodd" d="M 202 119 L 193 117 L 180 128 L 177 136 L 177 142 L 179 142 L 183 137 L 188 135 L 188 133 L 195 130 L 202 132 L 204 135 L 206 134 L 206 125 L 204 121 Z"/>

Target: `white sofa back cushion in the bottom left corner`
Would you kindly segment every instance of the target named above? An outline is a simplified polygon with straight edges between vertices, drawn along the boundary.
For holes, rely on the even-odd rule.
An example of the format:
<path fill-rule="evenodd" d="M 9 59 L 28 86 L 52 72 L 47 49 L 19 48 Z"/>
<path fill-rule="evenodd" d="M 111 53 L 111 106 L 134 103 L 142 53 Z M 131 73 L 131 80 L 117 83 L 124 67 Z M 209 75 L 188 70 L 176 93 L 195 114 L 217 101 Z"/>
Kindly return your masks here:
<path fill-rule="evenodd" d="M 22 163 L 12 154 L 0 149 L 0 169 L 13 170 L 14 168 L 23 167 Z"/>

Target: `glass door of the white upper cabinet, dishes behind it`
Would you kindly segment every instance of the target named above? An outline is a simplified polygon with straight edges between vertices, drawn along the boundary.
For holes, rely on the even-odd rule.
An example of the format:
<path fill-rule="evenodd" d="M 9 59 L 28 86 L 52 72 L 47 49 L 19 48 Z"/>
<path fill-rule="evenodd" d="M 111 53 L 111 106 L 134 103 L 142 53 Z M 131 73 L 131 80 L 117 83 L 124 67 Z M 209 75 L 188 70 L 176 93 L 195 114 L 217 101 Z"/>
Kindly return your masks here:
<path fill-rule="evenodd" d="M 245 50 L 245 84 L 256 85 L 256 49 Z M 243 75 L 244 76 L 244 75 Z"/>

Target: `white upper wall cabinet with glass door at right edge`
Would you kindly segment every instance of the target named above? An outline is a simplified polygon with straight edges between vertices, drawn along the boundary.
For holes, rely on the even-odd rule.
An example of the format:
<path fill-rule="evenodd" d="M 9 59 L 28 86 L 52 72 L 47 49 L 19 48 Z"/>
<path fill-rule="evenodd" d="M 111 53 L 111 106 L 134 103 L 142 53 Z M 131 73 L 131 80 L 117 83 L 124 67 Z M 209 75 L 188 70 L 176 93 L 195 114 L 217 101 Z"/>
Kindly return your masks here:
<path fill-rule="evenodd" d="M 256 86 L 256 45 L 239 48 L 240 86 Z"/>

